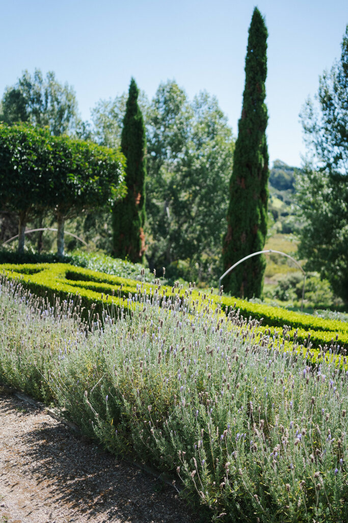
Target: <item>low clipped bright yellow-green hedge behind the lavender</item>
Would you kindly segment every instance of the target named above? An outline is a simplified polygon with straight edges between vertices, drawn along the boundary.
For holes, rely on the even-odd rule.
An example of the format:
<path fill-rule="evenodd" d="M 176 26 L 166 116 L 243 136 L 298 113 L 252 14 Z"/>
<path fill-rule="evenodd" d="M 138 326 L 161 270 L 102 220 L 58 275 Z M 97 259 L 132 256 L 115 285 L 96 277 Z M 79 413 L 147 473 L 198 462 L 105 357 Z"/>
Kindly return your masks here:
<path fill-rule="evenodd" d="M 121 278 L 96 272 L 82 267 L 75 267 L 68 264 L 3 264 L 0 270 L 5 271 L 9 278 L 21 279 L 30 290 L 38 295 L 47 295 L 50 300 L 55 297 L 66 299 L 68 294 L 80 295 L 81 307 L 85 308 L 82 316 L 87 318 L 91 305 L 95 304 L 94 312 L 102 314 L 107 306 L 114 304 L 116 307 L 134 309 L 135 304 L 129 299 L 134 297 L 139 289 L 140 282 L 127 278 Z M 150 294 L 158 285 L 153 283 L 144 284 L 145 292 Z M 173 288 L 161 287 L 159 292 L 166 297 L 171 297 Z M 183 295 L 185 289 L 178 290 L 179 295 Z M 186 293 L 188 291 L 186 290 Z M 196 303 L 202 303 L 202 298 L 210 302 L 210 306 L 218 303 L 224 311 L 229 307 L 239 309 L 242 316 L 246 319 L 249 316 L 261 320 L 260 332 L 266 333 L 271 327 L 271 336 L 283 335 L 283 326 L 290 328 L 286 335 L 290 339 L 294 337 L 299 344 L 308 343 L 308 336 L 313 347 L 318 348 L 320 345 L 339 345 L 340 348 L 348 346 L 348 325 L 337 320 L 323 320 L 287 311 L 277 307 L 250 303 L 244 300 L 238 300 L 229 297 L 218 297 L 216 294 L 205 295 L 197 290 L 191 290 L 191 297 Z M 198 301 L 197 301 L 198 300 Z M 298 320 L 298 321 L 297 321 Z M 275 334 L 274 334 L 275 333 Z"/>

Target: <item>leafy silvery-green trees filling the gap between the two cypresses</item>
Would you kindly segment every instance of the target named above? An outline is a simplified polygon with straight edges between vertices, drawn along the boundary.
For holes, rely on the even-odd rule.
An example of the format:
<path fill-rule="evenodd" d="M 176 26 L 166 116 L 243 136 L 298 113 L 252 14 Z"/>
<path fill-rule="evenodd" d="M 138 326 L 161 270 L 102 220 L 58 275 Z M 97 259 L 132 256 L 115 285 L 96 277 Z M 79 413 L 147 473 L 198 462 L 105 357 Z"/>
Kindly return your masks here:
<path fill-rule="evenodd" d="M 234 151 L 227 119 L 216 98 L 202 92 L 189 101 L 174 81 L 161 84 L 151 104 L 141 94 L 139 105 L 148 144 L 148 263 L 157 271 L 172 263 L 187 266 L 186 274 L 215 270 L 218 278 Z M 124 106 L 123 95 L 101 100 L 94 108 L 94 137 L 99 143 L 120 143 Z M 103 223 L 109 226 L 107 219 Z"/>

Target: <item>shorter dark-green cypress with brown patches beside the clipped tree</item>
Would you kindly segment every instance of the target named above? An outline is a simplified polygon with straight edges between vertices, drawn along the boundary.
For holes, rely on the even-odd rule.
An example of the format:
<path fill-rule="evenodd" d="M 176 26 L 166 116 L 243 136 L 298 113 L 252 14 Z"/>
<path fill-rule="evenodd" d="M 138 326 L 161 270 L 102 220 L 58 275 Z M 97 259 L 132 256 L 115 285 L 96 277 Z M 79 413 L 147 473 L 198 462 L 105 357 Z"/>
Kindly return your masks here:
<path fill-rule="evenodd" d="M 113 207 L 113 254 L 133 263 L 145 253 L 146 136 L 138 105 L 139 89 L 131 78 L 123 120 L 121 149 L 126 157 L 127 196 Z"/>

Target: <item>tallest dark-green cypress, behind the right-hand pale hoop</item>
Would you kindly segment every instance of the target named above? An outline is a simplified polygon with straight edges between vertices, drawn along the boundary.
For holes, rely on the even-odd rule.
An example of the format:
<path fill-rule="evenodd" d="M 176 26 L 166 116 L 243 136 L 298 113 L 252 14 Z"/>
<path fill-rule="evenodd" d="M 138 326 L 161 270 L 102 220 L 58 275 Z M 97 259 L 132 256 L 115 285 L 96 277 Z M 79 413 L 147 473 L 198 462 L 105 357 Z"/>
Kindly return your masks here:
<path fill-rule="evenodd" d="M 238 122 L 227 233 L 223 241 L 225 270 L 241 258 L 262 251 L 267 234 L 268 150 L 265 104 L 267 28 L 257 7 L 249 27 L 242 116 Z M 265 257 L 255 256 L 233 269 L 224 288 L 244 298 L 262 293 Z"/>

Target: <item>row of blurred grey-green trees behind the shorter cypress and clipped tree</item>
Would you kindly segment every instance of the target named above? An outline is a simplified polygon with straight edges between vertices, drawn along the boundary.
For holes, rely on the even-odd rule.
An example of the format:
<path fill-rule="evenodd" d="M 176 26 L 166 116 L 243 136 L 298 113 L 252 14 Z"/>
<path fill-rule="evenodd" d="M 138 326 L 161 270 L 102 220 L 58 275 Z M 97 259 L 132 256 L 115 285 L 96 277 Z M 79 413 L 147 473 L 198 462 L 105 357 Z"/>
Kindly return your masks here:
<path fill-rule="evenodd" d="M 71 139 L 80 138 L 117 151 L 122 145 L 129 96 L 100 100 L 92 110 L 92 123 L 81 122 L 73 89 L 59 84 L 54 73 L 44 78 L 38 70 L 33 75 L 25 72 L 15 86 L 6 90 L 0 120 L 8 124 L 25 121 L 35 129 L 46 124 L 52 135 L 68 134 Z M 146 238 L 148 264 L 151 269 L 165 266 L 168 272 L 171 266 L 175 271 L 182 266 L 183 276 L 190 274 L 194 278 L 215 269 L 218 276 L 234 151 L 227 118 L 215 97 L 201 92 L 189 100 L 175 81 L 161 83 L 151 101 L 138 93 L 136 103 L 142 113 L 147 144 L 143 190 L 147 219 L 144 223 L 142 218 L 139 228 Z M 119 202 L 116 208 L 121 209 Z M 85 209 L 83 216 L 77 232 L 87 239 L 97 237 L 98 248 L 127 255 L 132 261 L 143 259 L 141 246 L 137 251 L 142 250 L 140 257 L 115 247 L 115 212 L 105 207 L 90 212 Z M 124 222 L 126 216 L 120 213 Z"/>

